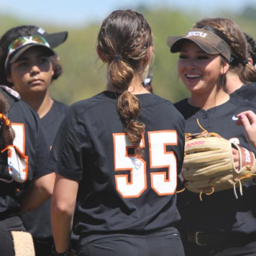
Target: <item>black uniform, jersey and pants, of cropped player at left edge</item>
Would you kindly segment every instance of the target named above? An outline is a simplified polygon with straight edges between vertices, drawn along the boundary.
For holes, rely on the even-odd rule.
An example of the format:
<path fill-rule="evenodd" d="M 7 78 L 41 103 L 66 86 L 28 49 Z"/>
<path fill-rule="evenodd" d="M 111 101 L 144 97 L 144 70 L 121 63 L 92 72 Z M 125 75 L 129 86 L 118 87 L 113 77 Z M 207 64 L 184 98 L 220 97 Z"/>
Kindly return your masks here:
<path fill-rule="evenodd" d="M 19 100 L 15 96 L 17 93 L 10 88 L 0 87 L 0 92 L 11 102 L 8 119 L 15 131 L 13 144 L 28 159 L 27 181 L 22 187 L 26 189 L 33 179 L 50 173 L 49 169 L 45 169 L 49 147 L 38 115 L 25 102 Z M 25 230 L 20 218 L 20 204 L 16 192 L 15 182 L 0 180 L 0 232 L 3 235 L 1 241 L 5 241 L 0 243 L 1 255 L 14 255 L 13 246 L 10 247 L 8 243 L 11 239 L 10 231 Z"/>

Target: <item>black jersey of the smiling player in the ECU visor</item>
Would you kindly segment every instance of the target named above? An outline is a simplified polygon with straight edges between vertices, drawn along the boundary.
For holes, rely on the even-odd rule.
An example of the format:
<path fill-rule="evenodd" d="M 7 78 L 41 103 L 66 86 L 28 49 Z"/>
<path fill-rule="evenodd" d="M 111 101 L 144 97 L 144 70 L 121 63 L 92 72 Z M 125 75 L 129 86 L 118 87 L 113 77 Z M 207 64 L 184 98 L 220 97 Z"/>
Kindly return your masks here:
<path fill-rule="evenodd" d="M 256 111 L 256 104 L 247 100 L 230 98 L 224 104 L 203 110 L 190 105 L 187 99 L 175 103 L 185 117 L 185 132 L 200 133 L 201 126 L 208 132 L 220 134 L 225 139 L 252 150 L 246 140 L 244 127 L 235 124 L 237 114 L 245 110 Z M 243 196 L 234 197 L 233 189 L 220 191 L 210 196 L 185 190 L 178 194 L 178 209 L 181 214 L 181 229 L 186 231 L 233 231 L 256 232 L 256 204 L 254 195 L 256 183 L 249 181 L 243 185 Z"/>

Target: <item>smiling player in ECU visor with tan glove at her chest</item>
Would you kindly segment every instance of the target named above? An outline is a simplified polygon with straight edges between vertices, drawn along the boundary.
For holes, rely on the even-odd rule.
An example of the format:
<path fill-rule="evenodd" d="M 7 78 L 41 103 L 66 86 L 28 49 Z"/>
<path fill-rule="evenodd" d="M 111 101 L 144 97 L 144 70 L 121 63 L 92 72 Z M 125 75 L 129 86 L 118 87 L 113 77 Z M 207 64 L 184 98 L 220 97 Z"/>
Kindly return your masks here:
<path fill-rule="evenodd" d="M 188 99 L 175 103 L 185 118 L 186 133 L 202 129 L 253 151 L 236 117 L 242 111 L 255 110 L 255 104 L 230 98 L 224 91 L 230 48 L 215 30 L 193 28 L 185 36 L 169 37 L 173 53 L 179 52 L 178 73 Z M 197 121 L 198 120 L 198 121 Z M 233 152 L 234 162 L 238 161 Z M 251 166 L 253 167 L 253 166 Z M 243 196 L 234 196 L 233 187 L 211 195 L 185 190 L 178 194 L 180 231 L 186 255 L 255 255 L 256 204 L 252 200 L 256 186 L 251 180 L 243 185 Z"/>

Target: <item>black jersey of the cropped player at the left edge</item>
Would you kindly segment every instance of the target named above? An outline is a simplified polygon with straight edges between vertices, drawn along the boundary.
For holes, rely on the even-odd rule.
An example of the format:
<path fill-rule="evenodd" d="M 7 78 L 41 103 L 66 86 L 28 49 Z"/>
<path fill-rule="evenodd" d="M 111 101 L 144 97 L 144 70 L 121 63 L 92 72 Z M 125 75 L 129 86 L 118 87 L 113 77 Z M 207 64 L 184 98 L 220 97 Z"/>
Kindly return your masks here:
<path fill-rule="evenodd" d="M 11 89 L 8 89 L 11 90 Z M 10 95 L 1 87 L 5 97 Z M 15 131 L 13 144 L 28 157 L 28 174 L 25 188 L 33 179 L 50 173 L 45 169 L 49 156 L 46 137 L 38 115 L 22 100 L 15 99 L 8 112 L 8 118 Z M 16 198 L 14 183 L 0 181 L 0 220 L 19 215 L 20 205 Z"/>

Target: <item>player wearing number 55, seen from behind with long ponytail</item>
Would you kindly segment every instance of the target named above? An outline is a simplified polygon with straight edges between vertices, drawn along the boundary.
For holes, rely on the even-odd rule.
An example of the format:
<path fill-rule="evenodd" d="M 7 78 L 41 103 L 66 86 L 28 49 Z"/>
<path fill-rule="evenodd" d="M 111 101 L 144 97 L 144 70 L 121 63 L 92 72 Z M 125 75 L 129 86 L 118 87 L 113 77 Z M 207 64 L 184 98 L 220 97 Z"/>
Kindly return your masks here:
<path fill-rule="evenodd" d="M 175 228 L 184 119 L 142 85 L 153 51 L 140 13 L 103 20 L 97 53 L 108 90 L 70 107 L 48 162 L 55 255 L 68 255 L 73 222 L 77 255 L 184 255 Z"/>

